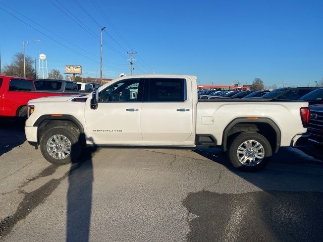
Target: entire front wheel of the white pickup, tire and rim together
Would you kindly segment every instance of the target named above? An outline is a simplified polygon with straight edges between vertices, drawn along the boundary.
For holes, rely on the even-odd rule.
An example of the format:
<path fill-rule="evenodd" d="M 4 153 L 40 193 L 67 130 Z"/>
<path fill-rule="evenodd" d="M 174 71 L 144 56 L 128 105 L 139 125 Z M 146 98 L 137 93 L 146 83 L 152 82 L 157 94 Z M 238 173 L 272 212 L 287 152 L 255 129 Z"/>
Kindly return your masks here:
<path fill-rule="evenodd" d="M 40 139 L 44 158 L 53 164 L 76 162 L 81 152 L 79 133 L 71 127 L 56 127 L 46 131 Z"/>

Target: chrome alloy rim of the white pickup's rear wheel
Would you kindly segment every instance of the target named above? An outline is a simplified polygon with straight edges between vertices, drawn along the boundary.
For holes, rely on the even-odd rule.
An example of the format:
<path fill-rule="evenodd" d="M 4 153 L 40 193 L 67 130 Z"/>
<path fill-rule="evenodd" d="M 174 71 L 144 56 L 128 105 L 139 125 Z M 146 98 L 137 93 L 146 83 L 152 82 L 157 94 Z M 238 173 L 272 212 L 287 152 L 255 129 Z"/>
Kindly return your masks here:
<path fill-rule="evenodd" d="M 247 140 L 239 146 L 237 156 L 243 165 L 255 166 L 264 158 L 264 148 L 258 141 Z"/>

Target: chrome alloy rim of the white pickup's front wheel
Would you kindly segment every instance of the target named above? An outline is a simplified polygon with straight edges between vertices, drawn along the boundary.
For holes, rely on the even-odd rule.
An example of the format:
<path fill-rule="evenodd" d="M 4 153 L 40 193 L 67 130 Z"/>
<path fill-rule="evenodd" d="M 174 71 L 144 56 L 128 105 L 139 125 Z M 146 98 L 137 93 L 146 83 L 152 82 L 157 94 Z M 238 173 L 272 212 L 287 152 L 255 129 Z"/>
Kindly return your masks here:
<path fill-rule="evenodd" d="M 53 135 L 46 143 L 48 154 L 55 159 L 62 160 L 71 154 L 71 141 L 64 135 Z"/>

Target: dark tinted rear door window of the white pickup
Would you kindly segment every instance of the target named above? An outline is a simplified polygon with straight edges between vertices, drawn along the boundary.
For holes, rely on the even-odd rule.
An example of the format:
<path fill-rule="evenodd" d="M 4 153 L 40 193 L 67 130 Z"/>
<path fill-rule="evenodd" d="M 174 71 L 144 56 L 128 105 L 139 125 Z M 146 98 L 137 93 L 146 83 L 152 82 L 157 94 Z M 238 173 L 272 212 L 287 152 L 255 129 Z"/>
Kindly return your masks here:
<path fill-rule="evenodd" d="M 156 78 L 149 80 L 150 102 L 183 102 L 184 79 Z"/>

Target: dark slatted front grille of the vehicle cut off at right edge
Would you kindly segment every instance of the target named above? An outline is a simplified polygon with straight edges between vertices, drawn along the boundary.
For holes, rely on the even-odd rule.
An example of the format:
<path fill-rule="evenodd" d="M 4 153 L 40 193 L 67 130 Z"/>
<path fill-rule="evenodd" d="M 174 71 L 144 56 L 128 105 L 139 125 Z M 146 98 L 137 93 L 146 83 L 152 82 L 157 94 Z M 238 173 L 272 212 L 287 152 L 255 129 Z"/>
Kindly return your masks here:
<path fill-rule="evenodd" d="M 323 111 L 311 110 L 316 118 L 310 117 L 307 132 L 310 133 L 310 142 L 323 145 Z"/>

